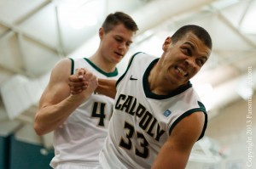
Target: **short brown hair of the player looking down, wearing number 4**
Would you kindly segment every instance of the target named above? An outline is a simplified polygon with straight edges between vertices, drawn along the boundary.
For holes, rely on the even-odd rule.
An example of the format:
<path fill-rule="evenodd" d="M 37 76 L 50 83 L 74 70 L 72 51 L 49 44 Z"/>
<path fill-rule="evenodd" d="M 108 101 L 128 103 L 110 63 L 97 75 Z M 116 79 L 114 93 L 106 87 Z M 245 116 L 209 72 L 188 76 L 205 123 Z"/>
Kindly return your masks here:
<path fill-rule="evenodd" d="M 108 31 L 111 31 L 115 25 L 119 24 L 124 24 L 126 29 L 134 32 L 138 30 L 136 22 L 131 18 L 130 15 L 123 12 L 108 14 L 107 18 L 102 24 L 102 27 L 104 31 L 108 33 Z"/>

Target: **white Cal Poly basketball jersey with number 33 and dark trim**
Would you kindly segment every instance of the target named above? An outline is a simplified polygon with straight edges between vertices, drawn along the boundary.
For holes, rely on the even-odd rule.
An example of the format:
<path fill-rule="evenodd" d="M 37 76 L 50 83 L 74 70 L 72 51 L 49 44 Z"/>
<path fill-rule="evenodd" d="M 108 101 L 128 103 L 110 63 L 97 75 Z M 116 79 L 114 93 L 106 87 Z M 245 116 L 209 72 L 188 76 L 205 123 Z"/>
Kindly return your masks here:
<path fill-rule="evenodd" d="M 196 111 L 205 114 L 204 135 L 207 112 L 190 82 L 169 95 L 150 92 L 148 75 L 157 61 L 148 54 L 135 54 L 119 78 L 108 137 L 100 153 L 103 168 L 150 168 L 172 129 Z"/>

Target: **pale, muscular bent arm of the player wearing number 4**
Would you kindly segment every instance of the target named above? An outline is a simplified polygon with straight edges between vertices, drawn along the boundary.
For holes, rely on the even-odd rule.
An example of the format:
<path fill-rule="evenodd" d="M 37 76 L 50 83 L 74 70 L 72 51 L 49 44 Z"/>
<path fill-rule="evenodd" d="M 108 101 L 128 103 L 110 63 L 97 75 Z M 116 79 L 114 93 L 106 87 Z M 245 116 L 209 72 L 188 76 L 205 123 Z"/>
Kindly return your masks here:
<path fill-rule="evenodd" d="M 93 92 L 70 94 L 70 87 L 68 86 L 70 72 L 70 59 L 61 60 L 51 71 L 49 84 L 39 100 L 38 112 L 34 119 L 34 129 L 38 135 L 51 132 L 59 127 L 72 114 L 73 110 Z M 84 82 L 85 87 L 86 85 L 88 84 Z M 92 90 L 94 89 L 92 88 Z"/>

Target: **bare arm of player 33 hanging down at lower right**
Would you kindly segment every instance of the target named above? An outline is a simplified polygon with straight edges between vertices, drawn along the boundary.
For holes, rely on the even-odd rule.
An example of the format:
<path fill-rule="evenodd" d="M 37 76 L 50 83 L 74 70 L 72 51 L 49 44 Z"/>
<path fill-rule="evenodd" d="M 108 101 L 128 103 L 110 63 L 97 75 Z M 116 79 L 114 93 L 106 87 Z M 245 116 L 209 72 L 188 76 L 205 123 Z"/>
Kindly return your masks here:
<path fill-rule="evenodd" d="M 184 169 L 193 145 L 201 136 L 204 122 L 203 112 L 195 112 L 179 121 L 161 147 L 152 169 Z"/>

